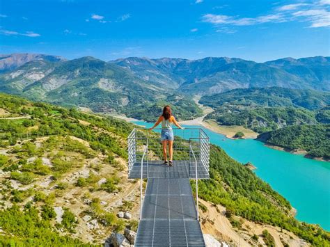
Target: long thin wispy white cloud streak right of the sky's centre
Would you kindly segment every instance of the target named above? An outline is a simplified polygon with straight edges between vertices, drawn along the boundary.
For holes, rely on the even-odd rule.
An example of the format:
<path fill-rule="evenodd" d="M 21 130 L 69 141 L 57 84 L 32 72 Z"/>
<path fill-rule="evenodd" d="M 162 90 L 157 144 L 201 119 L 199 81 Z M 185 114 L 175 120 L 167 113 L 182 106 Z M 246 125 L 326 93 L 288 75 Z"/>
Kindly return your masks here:
<path fill-rule="evenodd" d="M 207 14 L 203 15 L 202 20 L 203 22 L 209 22 L 212 24 L 231 24 L 235 26 L 249 26 L 267 22 L 285 22 L 285 19 L 281 14 L 261 15 L 255 18 L 237 18 L 228 15 Z"/>

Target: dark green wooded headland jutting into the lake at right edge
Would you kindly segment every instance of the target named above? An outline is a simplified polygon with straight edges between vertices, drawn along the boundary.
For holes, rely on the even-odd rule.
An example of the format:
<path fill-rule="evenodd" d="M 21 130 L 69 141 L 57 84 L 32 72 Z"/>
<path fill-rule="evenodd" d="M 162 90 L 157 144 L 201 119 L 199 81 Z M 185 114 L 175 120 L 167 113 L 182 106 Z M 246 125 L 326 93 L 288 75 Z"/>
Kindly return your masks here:
<path fill-rule="evenodd" d="M 330 159 L 330 125 L 296 125 L 258 136 L 260 141 L 288 150 L 306 150 L 312 157 Z"/>

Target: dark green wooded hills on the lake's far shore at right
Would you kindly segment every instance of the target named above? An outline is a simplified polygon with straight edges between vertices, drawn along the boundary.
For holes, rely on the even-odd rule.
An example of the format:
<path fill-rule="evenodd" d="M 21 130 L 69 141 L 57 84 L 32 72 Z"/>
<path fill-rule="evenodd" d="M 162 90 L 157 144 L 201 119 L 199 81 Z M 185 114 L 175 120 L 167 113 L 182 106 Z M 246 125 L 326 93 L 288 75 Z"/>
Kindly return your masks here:
<path fill-rule="evenodd" d="M 235 89 L 202 97 L 200 102 L 215 109 L 206 119 L 220 125 L 240 125 L 262 133 L 260 141 L 329 159 L 329 92 L 276 87 Z"/>

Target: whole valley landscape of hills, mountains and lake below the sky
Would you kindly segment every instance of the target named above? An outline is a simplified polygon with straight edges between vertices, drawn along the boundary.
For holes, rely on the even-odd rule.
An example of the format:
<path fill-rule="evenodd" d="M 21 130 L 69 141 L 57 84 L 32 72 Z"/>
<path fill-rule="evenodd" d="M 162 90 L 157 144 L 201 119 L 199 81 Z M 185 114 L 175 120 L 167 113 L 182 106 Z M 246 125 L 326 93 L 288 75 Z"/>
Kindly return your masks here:
<path fill-rule="evenodd" d="M 0 94 L 1 243 L 98 245 L 111 232 L 136 231 L 139 186 L 127 179 L 126 138 L 169 104 L 182 125 L 203 125 L 214 143 L 212 178 L 198 182 L 204 233 L 233 246 L 272 238 L 279 246 L 329 244 L 327 162 L 264 145 L 329 160 L 329 58 L 283 58 L 285 66 L 239 58 L 3 59 L 0 91 L 19 97 Z M 301 66 L 308 77 L 297 74 Z M 242 166 L 248 162 L 256 170 Z M 317 212 L 296 184 L 322 205 Z"/>

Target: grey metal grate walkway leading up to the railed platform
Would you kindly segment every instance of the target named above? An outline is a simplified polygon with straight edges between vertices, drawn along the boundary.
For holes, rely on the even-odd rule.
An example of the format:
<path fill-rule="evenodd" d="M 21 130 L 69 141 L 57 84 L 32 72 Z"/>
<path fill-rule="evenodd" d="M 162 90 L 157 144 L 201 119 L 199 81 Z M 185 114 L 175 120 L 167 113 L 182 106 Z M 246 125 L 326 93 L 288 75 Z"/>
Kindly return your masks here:
<path fill-rule="evenodd" d="M 135 246 L 205 246 L 189 178 L 149 178 Z"/>

